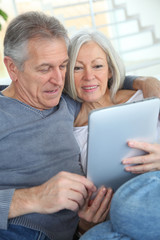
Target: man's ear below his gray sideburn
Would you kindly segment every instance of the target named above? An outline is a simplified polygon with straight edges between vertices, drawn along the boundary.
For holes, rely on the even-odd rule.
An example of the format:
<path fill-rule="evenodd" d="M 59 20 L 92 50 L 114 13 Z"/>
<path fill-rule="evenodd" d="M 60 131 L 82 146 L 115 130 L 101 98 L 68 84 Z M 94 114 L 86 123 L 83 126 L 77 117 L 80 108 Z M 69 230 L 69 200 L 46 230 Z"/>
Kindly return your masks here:
<path fill-rule="evenodd" d="M 5 56 L 4 57 L 4 64 L 7 68 L 7 71 L 9 73 L 10 78 L 12 79 L 13 82 L 17 81 L 17 73 L 18 73 L 18 69 L 14 63 L 14 61 L 12 60 L 12 58 Z"/>

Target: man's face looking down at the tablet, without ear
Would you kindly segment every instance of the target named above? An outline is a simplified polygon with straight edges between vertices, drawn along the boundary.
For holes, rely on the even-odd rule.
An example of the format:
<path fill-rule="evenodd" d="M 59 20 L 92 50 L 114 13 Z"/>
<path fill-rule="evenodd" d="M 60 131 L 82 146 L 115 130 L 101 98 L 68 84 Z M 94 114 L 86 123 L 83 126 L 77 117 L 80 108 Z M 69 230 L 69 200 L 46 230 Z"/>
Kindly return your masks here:
<path fill-rule="evenodd" d="M 17 70 L 15 98 L 40 110 L 59 103 L 68 54 L 63 39 L 32 39 L 23 71 Z"/>

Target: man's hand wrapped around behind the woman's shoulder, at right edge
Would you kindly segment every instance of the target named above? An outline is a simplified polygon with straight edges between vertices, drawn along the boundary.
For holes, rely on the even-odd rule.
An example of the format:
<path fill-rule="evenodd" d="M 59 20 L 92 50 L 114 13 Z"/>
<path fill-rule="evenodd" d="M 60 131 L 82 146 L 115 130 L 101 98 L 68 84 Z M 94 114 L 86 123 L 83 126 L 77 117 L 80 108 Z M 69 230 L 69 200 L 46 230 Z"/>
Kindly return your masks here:
<path fill-rule="evenodd" d="M 133 81 L 135 90 L 142 90 L 143 96 L 160 98 L 160 81 L 154 77 L 137 77 Z"/>

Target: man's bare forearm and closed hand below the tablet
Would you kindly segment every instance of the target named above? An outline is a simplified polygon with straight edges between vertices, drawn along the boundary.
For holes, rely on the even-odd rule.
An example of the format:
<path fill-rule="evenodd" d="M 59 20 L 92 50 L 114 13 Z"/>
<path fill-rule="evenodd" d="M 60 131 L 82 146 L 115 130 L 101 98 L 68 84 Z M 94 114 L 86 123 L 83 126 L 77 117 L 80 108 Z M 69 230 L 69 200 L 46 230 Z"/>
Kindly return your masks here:
<path fill-rule="evenodd" d="M 16 190 L 9 211 L 9 218 L 27 213 L 50 214 L 62 209 L 78 211 L 84 205 L 88 192 L 96 187 L 78 174 L 60 172 L 44 184 Z"/>

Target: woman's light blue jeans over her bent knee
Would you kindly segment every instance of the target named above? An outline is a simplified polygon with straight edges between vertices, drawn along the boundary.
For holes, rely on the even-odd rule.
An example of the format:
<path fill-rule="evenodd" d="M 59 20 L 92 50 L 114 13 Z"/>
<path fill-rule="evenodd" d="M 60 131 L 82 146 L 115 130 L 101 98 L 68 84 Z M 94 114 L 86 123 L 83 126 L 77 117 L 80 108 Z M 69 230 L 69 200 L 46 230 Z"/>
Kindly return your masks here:
<path fill-rule="evenodd" d="M 160 240 L 160 171 L 139 175 L 114 194 L 110 220 L 80 240 Z"/>

